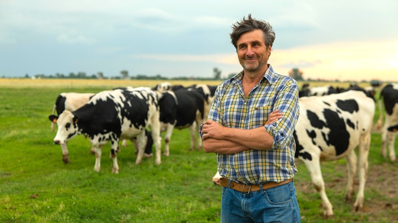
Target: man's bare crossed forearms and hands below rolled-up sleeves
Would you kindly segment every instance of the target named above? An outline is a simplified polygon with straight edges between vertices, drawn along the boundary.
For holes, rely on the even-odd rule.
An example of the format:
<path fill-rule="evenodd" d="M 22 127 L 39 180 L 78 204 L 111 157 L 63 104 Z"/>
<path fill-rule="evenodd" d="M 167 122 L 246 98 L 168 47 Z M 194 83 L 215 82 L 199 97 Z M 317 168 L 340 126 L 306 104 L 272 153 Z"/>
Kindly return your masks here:
<path fill-rule="evenodd" d="M 278 121 L 282 115 L 278 109 L 272 111 L 265 125 Z M 203 125 L 202 134 L 204 134 L 202 140 L 206 153 L 234 154 L 248 149 L 267 150 L 273 143 L 273 137 L 264 126 L 255 129 L 237 129 L 207 120 Z"/>

